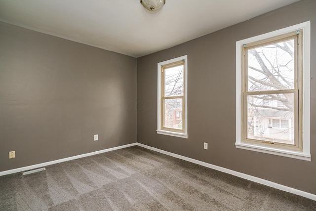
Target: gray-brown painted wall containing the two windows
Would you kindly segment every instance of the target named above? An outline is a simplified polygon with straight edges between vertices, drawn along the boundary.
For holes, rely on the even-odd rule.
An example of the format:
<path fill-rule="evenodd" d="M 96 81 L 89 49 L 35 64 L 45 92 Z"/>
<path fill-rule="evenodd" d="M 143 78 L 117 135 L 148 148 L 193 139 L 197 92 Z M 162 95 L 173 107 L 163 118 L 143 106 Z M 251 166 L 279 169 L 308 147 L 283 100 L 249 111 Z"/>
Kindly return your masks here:
<path fill-rule="evenodd" d="M 312 24 L 312 162 L 236 149 L 236 41 L 308 20 Z M 157 63 L 186 54 L 189 138 L 157 134 Z M 302 0 L 140 57 L 137 69 L 139 143 L 316 194 L 316 0 Z M 208 142 L 208 150 L 203 150 L 203 142 Z"/>

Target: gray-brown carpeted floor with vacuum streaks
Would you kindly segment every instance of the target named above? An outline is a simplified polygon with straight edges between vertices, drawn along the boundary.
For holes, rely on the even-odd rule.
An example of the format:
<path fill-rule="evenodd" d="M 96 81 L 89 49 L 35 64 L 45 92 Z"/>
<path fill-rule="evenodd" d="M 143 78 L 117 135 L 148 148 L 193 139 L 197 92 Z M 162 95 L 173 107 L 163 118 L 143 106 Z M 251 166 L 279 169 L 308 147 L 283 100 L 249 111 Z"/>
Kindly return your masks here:
<path fill-rule="evenodd" d="M 316 201 L 134 146 L 0 177 L 0 211 L 300 211 Z"/>

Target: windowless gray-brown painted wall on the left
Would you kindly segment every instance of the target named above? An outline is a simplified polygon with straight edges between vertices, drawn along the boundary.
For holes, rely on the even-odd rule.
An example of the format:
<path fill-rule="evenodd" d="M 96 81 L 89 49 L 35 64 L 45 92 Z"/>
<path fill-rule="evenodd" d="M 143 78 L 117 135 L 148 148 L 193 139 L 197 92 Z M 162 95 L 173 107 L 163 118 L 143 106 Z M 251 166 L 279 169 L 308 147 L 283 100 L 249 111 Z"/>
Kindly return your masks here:
<path fill-rule="evenodd" d="M 0 22 L 0 171 L 135 143 L 136 99 L 136 58 Z"/>

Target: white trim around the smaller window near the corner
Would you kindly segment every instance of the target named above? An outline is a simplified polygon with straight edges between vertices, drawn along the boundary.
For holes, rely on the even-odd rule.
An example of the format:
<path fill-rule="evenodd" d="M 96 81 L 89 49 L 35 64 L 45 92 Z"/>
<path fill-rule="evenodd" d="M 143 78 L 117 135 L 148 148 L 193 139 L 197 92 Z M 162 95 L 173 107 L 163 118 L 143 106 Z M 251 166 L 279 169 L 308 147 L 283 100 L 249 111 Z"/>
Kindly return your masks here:
<path fill-rule="evenodd" d="M 184 133 L 173 132 L 161 129 L 161 65 L 170 64 L 173 62 L 181 61 L 184 59 Z M 157 100 L 157 133 L 162 135 L 170 135 L 180 138 L 188 138 L 188 55 L 180 56 L 178 58 L 170 59 L 167 61 L 159 62 L 158 69 L 158 100 Z"/>

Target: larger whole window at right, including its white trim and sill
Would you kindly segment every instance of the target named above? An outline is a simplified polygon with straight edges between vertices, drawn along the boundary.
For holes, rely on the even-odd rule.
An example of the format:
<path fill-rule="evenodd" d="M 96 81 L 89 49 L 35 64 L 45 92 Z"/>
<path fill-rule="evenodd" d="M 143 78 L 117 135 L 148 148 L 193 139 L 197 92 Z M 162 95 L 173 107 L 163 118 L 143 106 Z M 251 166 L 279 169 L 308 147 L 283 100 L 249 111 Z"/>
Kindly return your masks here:
<path fill-rule="evenodd" d="M 310 22 L 238 41 L 236 55 L 236 147 L 310 161 Z"/>

